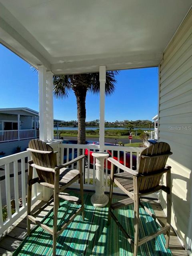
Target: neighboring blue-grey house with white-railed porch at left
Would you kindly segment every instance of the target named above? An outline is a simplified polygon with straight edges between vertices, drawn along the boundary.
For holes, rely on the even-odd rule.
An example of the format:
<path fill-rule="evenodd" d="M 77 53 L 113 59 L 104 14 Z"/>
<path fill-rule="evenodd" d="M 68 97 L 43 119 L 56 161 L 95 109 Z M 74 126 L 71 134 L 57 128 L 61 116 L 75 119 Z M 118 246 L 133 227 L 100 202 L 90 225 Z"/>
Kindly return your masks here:
<path fill-rule="evenodd" d="M 39 136 L 39 113 L 30 108 L 0 108 L 1 156 L 14 154 L 28 147 Z"/>

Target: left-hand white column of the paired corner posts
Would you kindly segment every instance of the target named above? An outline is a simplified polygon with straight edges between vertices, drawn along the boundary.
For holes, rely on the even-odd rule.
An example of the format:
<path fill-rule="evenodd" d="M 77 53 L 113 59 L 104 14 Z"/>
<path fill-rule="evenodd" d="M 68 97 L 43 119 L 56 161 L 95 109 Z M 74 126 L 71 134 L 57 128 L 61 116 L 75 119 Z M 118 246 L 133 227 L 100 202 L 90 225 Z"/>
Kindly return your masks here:
<path fill-rule="evenodd" d="M 39 67 L 39 138 L 47 142 L 46 68 Z"/>

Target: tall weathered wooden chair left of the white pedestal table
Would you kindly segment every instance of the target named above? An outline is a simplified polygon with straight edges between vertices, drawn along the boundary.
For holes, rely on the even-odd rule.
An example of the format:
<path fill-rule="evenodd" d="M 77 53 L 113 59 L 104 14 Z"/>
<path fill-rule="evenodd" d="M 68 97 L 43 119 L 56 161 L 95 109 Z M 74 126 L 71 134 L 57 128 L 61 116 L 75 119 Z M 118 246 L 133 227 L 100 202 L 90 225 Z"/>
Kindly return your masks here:
<path fill-rule="evenodd" d="M 28 196 L 27 196 L 27 230 L 28 236 L 30 235 L 30 224 L 41 226 L 44 230 L 48 231 L 53 236 L 53 255 L 56 255 L 56 239 L 63 232 L 63 230 L 70 224 L 74 218 L 82 212 L 82 218 L 84 220 L 84 202 L 83 202 L 83 179 L 82 179 L 82 159 L 84 156 L 79 156 L 74 160 L 57 166 L 56 153 L 52 147 L 41 140 L 31 140 L 29 142 L 29 148 L 31 152 L 32 160 L 28 162 Z M 71 164 L 79 161 L 79 170 L 72 170 L 66 168 Z M 32 178 L 33 168 L 36 169 L 38 177 Z M 80 194 L 81 199 L 70 196 L 69 194 L 63 193 L 63 191 L 70 186 L 76 180 L 80 181 Z M 42 222 L 38 221 L 34 216 L 31 215 L 31 197 L 32 197 L 32 184 L 38 182 L 42 186 L 52 188 L 54 190 L 54 219 L 53 228 L 48 227 Z M 59 198 L 68 200 L 74 204 L 81 204 L 81 207 L 73 214 L 67 223 L 57 229 L 57 216 L 59 207 Z"/>

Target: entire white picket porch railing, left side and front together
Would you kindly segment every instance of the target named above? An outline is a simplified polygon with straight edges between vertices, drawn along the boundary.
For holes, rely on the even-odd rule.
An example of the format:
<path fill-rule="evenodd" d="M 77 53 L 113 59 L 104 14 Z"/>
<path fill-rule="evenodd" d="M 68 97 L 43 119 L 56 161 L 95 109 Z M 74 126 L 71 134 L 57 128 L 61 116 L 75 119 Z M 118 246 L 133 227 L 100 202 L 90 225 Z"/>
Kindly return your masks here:
<path fill-rule="evenodd" d="M 96 166 L 95 158 L 92 158 L 90 166 L 90 151 L 95 152 L 99 150 L 98 145 L 78 145 L 78 144 L 58 144 L 58 151 L 60 153 L 60 164 L 74 159 L 80 153 L 87 155 L 87 168 L 85 168 L 85 161 L 83 161 L 84 170 L 84 189 L 94 190 L 96 182 Z M 132 166 L 134 155 L 134 161 L 136 160 L 136 166 L 139 162 L 139 153 L 143 148 L 134 147 L 120 147 L 120 146 L 105 146 L 105 151 L 110 150 L 112 157 L 116 157 L 117 160 L 124 165 Z M 82 152 L 81 152 L 82 151 Z M 126 159 L 126 154 L 129 153 L 130 157 Z M 28 158 L 30 154 L 28 151 L 24 151 L 11 156 L 5 156 L 0 158 L 0 234 L 2 234 L 7 228 L 9 228 L 24 212 L 26 212 L 26 194 L 27 194 L 27 169 Z M 129 162 L 127 161 L 129 160 Z M 136 168 L 135 166 L 135 168 Z M 72 164 L 72 168 L 78 168 L 75 164 Z M 109 168 L 108 163 L 105 162 L 105 187 L 106 191 L 109 191 Z M 120 172 L 119 169 L 116 172 Z M 35 172 L 34 172 L 35 173 Z M 78 182 L 71 186 L 72 188 L 79 188 Z M 41 198 L 42 193 L 38 184 L 34 184 L 32 190 L 32 204 Z M 120 192 L 118 188 L 114 188 L 114 192 Z M 20 198 L 22 198 L 22 206 L 20 206 Z M 14 206 L 12 202 L 14 201 Z M 13 212 L 14 209 L 14 212 Z M 5 216 L 6 215 L 6 216 Z"/>

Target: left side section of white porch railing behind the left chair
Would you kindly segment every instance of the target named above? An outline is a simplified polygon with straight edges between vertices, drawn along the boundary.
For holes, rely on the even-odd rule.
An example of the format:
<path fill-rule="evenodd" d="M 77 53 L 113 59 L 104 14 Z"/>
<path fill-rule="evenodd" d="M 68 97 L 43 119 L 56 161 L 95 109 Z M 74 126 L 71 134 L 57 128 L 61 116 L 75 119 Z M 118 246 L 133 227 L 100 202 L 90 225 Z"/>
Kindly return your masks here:
<path fill-rule="evenodd" d="M 0 167 L 4 169 L 1 170 L 0 175 L 0 234 L 26 212 L 28 158 L 28 151 L 0 158 Z M 32 193 L 33 204 L 41 196 L 37 184 L 33 186 Z M 22 198 L 22 207 L 20 207 L 20 198 Z M 14 208 L 15 212 L 13 212 Z"/>

